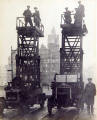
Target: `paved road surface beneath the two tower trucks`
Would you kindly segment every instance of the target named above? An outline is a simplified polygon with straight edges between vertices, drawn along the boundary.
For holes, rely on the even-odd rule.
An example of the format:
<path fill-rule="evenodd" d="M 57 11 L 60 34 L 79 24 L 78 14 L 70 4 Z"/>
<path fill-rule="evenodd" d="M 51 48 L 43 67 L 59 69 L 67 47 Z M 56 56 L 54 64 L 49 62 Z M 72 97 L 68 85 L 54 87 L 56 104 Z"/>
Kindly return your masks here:
<path fill-rule="evenodd" d="M 76 108 L 62 108 L 57 110 L 53 109 L 53 114 L 48 116 L 47 107 L 39 109 L 39 106 L 30 108 L 24 114 L 20 114 L 17 110 L 5 110 L 4 117 L 0 120 L 97 120 L 96 115 L 90 116 L 87 114 L 86 109 L 78 114 Z"/>

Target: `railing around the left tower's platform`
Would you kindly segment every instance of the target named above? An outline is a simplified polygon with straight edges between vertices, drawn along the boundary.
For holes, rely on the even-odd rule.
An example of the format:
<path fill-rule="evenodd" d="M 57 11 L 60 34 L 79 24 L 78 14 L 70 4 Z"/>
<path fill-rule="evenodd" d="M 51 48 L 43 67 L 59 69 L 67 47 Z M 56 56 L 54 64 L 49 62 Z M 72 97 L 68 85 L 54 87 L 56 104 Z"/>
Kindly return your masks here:
<path fill-rule="evenodd" d="M 43 26 L 43 24 L 37 18 L 37 22 L 39 23 L 39 26 L 38 26 L 37 23 L 36 23 L 36 21 L 35 21 L 35 19 L 36 18 L 31 17 L 33 27 L 38 28 L 40 31 L 42 31 L 44 33 L 44 26 Z M 30 27 L 30 25 L 25 26 L 25 17 L 17 17 L 17 19 L 16 19 L 16 28 L 18 28 L 18 27 Z"/>

